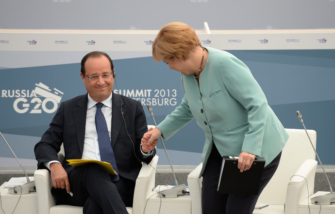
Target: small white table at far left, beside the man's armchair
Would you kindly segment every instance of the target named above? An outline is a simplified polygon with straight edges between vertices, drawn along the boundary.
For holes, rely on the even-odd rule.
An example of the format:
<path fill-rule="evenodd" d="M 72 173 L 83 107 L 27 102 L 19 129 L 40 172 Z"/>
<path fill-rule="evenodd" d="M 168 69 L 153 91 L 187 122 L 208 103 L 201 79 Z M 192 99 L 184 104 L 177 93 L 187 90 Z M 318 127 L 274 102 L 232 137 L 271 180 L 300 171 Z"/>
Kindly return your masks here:
<path fill-rule="evenodd" d="M 13 211 L 13 214 L 37 214 L 36 192 L 21 196 L 12 195 L 8 193 L 7 188 L 4 188 L 6 183 L 7 182 L 4 182 L 0 186 L 0 205 L 5 214 L 12 214 Z M 3 214 L 3 211 L 0 209 L 0 214 Z"/>

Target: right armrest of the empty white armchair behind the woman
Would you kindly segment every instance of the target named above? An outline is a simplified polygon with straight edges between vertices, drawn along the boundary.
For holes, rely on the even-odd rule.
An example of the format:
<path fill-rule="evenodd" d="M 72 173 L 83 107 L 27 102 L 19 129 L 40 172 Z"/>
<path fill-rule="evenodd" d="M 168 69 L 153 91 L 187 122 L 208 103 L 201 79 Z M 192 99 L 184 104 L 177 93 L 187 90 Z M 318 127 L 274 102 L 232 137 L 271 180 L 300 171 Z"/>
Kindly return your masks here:
<path fill-rule="evenodd" d="M 305 160 L 287 184 L 285 214 L 298 213 L 299 203 L 314 194 L 315 172 L 318 162 Z"/>

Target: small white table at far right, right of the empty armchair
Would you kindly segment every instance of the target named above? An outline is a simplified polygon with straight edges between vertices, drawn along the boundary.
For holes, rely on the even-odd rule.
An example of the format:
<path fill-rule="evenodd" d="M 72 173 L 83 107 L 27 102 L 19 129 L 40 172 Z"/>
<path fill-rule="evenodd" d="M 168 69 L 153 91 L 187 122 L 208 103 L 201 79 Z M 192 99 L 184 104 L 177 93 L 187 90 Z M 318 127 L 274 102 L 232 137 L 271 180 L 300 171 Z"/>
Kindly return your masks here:
<path fill-rule="evenodd" d="M 317 205 L 311 203 L 311 198 L 315 196 L 320 196 L 327 194 L 329 192 L 319 191 L 315 193 L 313 196 L 310 196 L 308 199 L 302 201 L 299 204 L 299 214 L 335 214 L 335 204 L 332 205 Z M 309 207 L 308 207 L 309 205 Z M 321 212 L 320 212 L 321 209 Z M 309 213 L 309 211 L 311 211 Z"/>

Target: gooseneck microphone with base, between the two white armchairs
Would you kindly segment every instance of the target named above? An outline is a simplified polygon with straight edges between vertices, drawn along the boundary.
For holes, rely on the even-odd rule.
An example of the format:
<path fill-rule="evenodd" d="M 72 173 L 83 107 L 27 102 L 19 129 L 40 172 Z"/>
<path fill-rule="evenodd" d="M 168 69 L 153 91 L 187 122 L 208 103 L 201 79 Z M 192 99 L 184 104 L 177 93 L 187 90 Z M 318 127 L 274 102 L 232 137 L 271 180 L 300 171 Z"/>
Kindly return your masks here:
<path fill-rule="evenodd" d="M 151 108 L 150 104 L 148 104 L 147 107 L 148 107 L 150 115 L 153 119 L 153 123 L 155 124 L 155 126 L 157 126 L 155 118 L 153 117 L 152 108 Z M 168 152 L 167 152 L 167 149 L 165 148 L 163 139 L 162 139 L 161 136 L 159 138 L 161 139 L 165 154 L 167 155 L 167 158 L 168 158 Z M 186 191 L 186 186 L 185 186 L 185 184 L 178 185 L 178 181 L 177 181 L 176 175 L 174 174 L 173 167 L 172 167 L 172 164 L 171 164 L 171 161 L 170 161 L 169 158 L 168 158 L 168 162 L 170 163 L 170 167 L 171 167 L 171 170 L 172 170 L 174 180 L 176 182 L 176 186 L 170 187 L 170 188 L 162 190 L 162 191 L 159 191 L 157 193 L 157 195 L 159 197 L 167 197 L 167 198 L 174 198 L 174 197 L 178 197 L 178 195 L 184 195 L 184 192 Z"/>

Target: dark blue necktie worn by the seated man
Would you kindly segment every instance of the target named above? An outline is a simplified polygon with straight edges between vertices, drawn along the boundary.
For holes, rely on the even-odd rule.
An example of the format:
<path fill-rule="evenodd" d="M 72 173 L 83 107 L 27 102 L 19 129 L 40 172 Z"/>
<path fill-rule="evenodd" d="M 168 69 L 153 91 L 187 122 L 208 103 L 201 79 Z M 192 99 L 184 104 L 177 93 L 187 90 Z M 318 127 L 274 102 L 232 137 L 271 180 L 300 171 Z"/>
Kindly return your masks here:
<path fill-rule="evenodd" d="M 107 123 L 101 111 L 103 104 L 97 103 L 96 105 L 97 111 L 95 113 L 95 126 L 98 133 L 101 161 L 110 163 L 113 169 L 117 172 L 117 163 L 115 161 L 111 140 L 109 138 Z M 117 176 L 112 176 L 113 181 L 117 181 L 118 178 L 118 173 Z"/>

